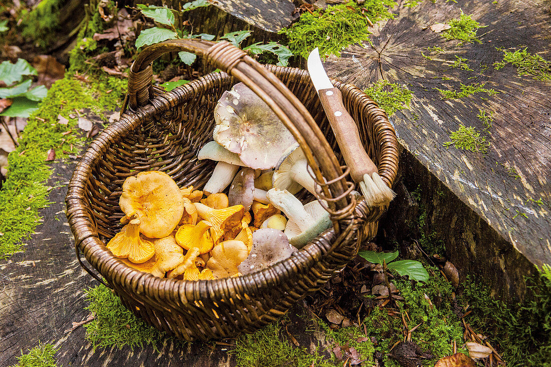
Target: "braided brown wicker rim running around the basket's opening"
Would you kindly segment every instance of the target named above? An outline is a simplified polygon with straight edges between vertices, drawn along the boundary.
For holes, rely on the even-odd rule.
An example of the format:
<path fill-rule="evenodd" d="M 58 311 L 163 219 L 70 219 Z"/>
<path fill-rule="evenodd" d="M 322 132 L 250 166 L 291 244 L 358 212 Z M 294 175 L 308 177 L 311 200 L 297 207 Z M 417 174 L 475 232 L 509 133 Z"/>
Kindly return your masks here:
<path fill-rule="evenodd" d="M 307 75 L 309 75 L 307 71 L 299 68 L 273 65 L 266 65 L 265 67 L 269 71 L 276 74 L 278 78 L 281 78 L 281 74 L 290 72 L 297 72 L 301 74 L 301 77 L 307 77 Z M 327 246 L 324 246 L 322 244 L 322 242 L 320 241 L 321 238 L 329 238 L 331 239 L 331 242 L 338 243 L 339 238 L 342 238 L 347 234 L 347 230 L 345 230 L 346 226 L 343 226 L 343 231 L 339 235 L 339 238 L 337 238 L 336 234 L 334 233 L 334 229 L 329 228 L 318 235 L 314 240 L 302 247 L 299 251 L 293 253 L 293 255 L 291 255 L 289 258 L 254 273 L 241 275 L 239 277 L 214 280 L 180 280 L 155 277 L 153 276 L 153 274 L 145 273 L 126 265 L 121 260 L 115 258 L 112 253 L 107 249 L 106 244 L 100 240 L 99 234 L 95 230 L 93 222 L 88 218 L 87 214 L 80 211 L 80 213 L 75 213 L 76 215 L 72 215 L 72 207 L 87 206 L 83 195 L 80 195 L 80 193 L 84 191 L 83 185 L 85 185 L 85 182 L 88 181 L 91 175 L 90 168 L 97 163 L 102 155 L 107 153 L 110 145 L 114 141 L 116 141 L 118 137 L 138 127 L 141 123 L 140 120 L 142 120 L 143 118 L 153 117 L 154 115 L 162 114 L 163 112 L 168 111 L 170 108 L 181 104 L 185 100 L 191 99 L 194 96 L 198 95 L 199 89 L 216 86 L 217 84 L 221 83 L 224 78 L 232 77 L 225 72 L 209 73 L 195 80 L 192 80 L 190 83 L 186 83 L 171 91 L 164 92 L 163 94 L 155 96 L 153 99 L 150 99 L 148 105 L 139 107 L 137 110 L 127 110 L 125 114 L 120 117 L 119 120 L 111 123 L 108 127 L 104 129 L 104 131 L 99 134 L 98 137 L 96 137 L 93 142 L 90 143 L 89 147 L 77 164 L 73 172 L 71 181 L 69 182 L 66 197 L 68 214 L 67 216 L 69 224 L 71 226 L 71 230 L 73 231 L 73 234 L 75 236 L 75 246 L 79 246 L 80 250 L 82 250 L 84 256 L 89 262 L 89 255 L 91 255 L 91 252 L 96 253 L 98 251 L 102 253 L 107 253 L 107 255 L 110 256 L 111 260 L 117 262 L 116 267 L 112 269 L 113 274 L 115 274 L 115 276 L 112 277 L 106 277 L 104 272 L 100 270 L 102 265 L 105 265 L 106 261 L 103 261 L 102 263 L 100 261 L 90 262 L 90 264 L 96 270 L 98 270 L 100 274 L 105 279 L 107 279 L 110 284 L 119 283 L 120 279 L 123 277 L 134 278 L 133 283 L 137 283 L 137 278 L 143 278 L 145 285 L 143 286 L 141 295 L 148 296 L 148 298 L 155 298 L 154 290 L 159 289 L 160 285 L 169 284 L 170 289 L 173 292 L 172 295 L 176 299 L 179 299 L 182 295 L 182 289 L 186 290 L 187 288 L 189 288 L 188 285 L 190 285 L 193 289 L 195 289 L 195 292 L 185 292 L 185 299 L 188 301 L 202 299 L 203 297 L 199 297 L 199 294 L 213 295 L 213 292 L 210 291 L 213 289 L 219 289 L 220 287 L 225 289 L 250 289 L 247 284 L 251 283 L 256 284 L 258 289 L 262 287 L 273 287 L 273 285 L 282 282 L 286 278 L 291 277 L 296 273 L 305 272 L 315 262 L 320 261 L 323 256 L 327 255 L 327 253 L 331 251 L 331 248 L 327 249 Z M 345 90 L 353 91 L 354 93 L 359 92 L 354 95 L 354 98 L 363 99 L 366 104 L 374 104 L 376 109 L 380 110 L 379 107 L 377 107 L 375 101 L 369 98 L 369 96 L 367 96 L 365 93 L 363 93 L 363 91 L 361 91 L 354 85 L 338 82 L 338 80 L 335 79 L 331 79 L 331 81 L 333 82 L 334 87 L 339 88 L 341 89 L 341 91 L 343 91 L 343 94 Z M 171 98 L 167 98 L 168 96 L 171 96 Z M 389 145 L 387 149 L 392 150 L 392 148 L 395 148 L 394 150 L 396 150 L 397 152 L 398 143 L 396 139 L 396 133 L 393 126 L 388 121 L 388 118 L 386 118 L 385 120 L 386 121 L 381 121 L 379 123 L 385 125 L 384 127 L 387 129 L 387 131 L 392 132 L 393 139 L 386 139 L 387 141 L 379 142 L 378 144 Z M 374 139 L 374 141 L 376 140 Z M 385 147 L 381 148 L 381 152 L 383 150 L 385 150 Z M 381 153 L 381 156 L 382 155 L 383 154 Z M 389 168 L 387 164 L 385 166 L 385 170 L 388 171 L 386 172 L 386 174 L 385 172 L 381 172 L 382 162 L 379 161 L 379 164 L 377 165 L 377 169 L 379 169 L 381 177 L 383 178 L 383 180 L 386 181 L 389 186 L 392 185 L 392 182 L 397 174 L 398 156 L 397 153 L 394 155 L 394 167 L 391 166 Z M 352 218 L 348 218 L 349 228 L 358 227 L 361 223 L 363 223 L 364 220 L 369 220 L 370 222 L 372 222 L 378 219 L 378 217 L 380 217 L 380 215 L 382 214 L 382 211 L 380 211 L 378 208 L 368 207 L 365 203 L 365 199 L 361 200 L 360 202 L 356 202 L 356 207 L 353 212 L 354 215 L 350 216 Z M 75 230 L 75 227 L 77 226 L 85 228 L 86 234 L 84 236 L 77 233 L 77 231 Z M 342 241 L 344 240 L 344 238 L 340 240 Z M 107 260 L 109 260 L 109 258 Z M 116 278 L 118 278 L 119 281 L 117 281 Z M 263 284 L 262 287 L 261 284 Z M 198 291 L 197 287 L 201 288 L 201 290 Z M 190 297 L 190 295 L 192 294 L 196 296 Z"/>

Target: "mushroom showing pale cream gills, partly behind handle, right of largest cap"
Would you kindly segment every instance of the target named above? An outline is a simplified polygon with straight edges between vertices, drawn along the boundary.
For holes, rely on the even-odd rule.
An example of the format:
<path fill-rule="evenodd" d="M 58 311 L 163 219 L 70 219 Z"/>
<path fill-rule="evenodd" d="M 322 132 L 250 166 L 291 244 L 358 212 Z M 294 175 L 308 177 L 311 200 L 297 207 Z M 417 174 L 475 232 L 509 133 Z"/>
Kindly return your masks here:
<path fill-rule="evenodd" d="M 290 150 L 290 149 L 289 149 Z M 302 187 L 315 194 L 314 179 L 308 172 L 306 156 L 300 147 L 287 150 L 280 159 L 273 173 L 272 184 L 279 190 L 287 190 L 293 195 Z"/>

